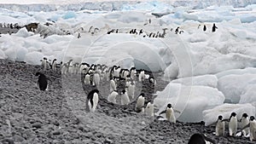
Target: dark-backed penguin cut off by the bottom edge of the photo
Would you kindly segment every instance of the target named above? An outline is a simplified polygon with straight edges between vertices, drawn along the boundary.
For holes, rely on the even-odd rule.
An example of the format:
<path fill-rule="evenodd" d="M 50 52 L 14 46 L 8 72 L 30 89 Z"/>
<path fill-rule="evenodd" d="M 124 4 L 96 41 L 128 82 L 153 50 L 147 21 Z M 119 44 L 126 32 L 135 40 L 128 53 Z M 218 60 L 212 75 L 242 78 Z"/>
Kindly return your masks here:
<path fill-rule="evenodd" d="M 212 144 L 215 144 L 215 141 L 208 138 L 206 135 L 196 133 L 191 135 L 188 144 L 207 144 L 207 141 L 212 142 Z"/>

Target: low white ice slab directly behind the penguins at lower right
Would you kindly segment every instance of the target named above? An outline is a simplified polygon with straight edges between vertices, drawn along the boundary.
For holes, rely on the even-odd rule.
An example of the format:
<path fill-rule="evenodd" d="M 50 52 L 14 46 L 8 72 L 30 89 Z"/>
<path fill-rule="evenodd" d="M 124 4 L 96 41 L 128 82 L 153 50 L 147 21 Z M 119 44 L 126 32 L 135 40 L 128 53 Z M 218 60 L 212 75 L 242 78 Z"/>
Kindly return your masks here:
<path fill-rule="evenodd" d="M 230 118 L 231 112 L 236 112 L 237 119 L 241 118 L 242 113 L 248 116 L 255 116 L 255 107 L 252 104 L 223 104 L 203 112 L 203 120 L 206 125 L 213 124 L 217 121 L 218 115 L 224 119 Z"/>

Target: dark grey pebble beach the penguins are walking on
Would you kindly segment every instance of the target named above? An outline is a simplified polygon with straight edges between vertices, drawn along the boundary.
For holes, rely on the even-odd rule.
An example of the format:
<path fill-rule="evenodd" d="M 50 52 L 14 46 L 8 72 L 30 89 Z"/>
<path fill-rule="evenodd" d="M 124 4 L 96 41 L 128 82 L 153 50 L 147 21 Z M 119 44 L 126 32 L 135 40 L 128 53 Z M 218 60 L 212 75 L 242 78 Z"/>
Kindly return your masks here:
<path fill-rule="evenodd" d="M 0 141 L 19 144 L 84 143 L 188 143 L 190 135 L 204 133 L 216 143 L 253 143 L 244 137 L 215 136 L 214 127 L 203 123 L 171 124 L 134 112 L 135 100 L 128 106 L 109 103 L 109 84 L 102 82 L 96 112 L 85 112 L 85 95 L 92 86 L 80 83 L 80 76 L 62 76 L 48 70 L 49 91 L 37 87 L 40 66 L 0 60 Z M 157 77 L 157 86 L 137 83 L 136 95 L 144 92 L 146 101 L 154 99 L 156 90 L 166 82 Z M 119 82 L 118 88 L 124 88 Z M 227 129 L 226 129 L 227 130 Z M 228 134 L 228 131 L 226 131 Z M 255 142 L 254 142 L 255 143 Z"/>

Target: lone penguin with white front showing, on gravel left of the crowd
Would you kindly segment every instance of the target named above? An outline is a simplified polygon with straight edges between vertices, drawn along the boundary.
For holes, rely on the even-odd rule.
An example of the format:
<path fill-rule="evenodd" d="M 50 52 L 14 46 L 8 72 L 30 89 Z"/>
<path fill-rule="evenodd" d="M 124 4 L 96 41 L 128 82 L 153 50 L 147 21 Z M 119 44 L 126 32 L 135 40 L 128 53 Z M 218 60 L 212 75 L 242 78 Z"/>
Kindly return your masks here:
<path fill-rule="evenodd" d="M 89 92 L 86 99 L 86 111 L 95 112 L 99 101 L 99 90 L 93 89 Z"/>

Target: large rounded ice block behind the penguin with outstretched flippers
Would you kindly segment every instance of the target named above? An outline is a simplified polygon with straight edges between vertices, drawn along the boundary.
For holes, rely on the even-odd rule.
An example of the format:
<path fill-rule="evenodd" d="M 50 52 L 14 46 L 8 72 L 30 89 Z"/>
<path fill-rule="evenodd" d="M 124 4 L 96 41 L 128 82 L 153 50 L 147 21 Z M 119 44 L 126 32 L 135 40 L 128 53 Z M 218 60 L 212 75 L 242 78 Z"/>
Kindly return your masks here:
<path fill-rule="evenodd" d="M 167 103 L 172 103 L 174 109 L 182 112 L 176 113 L 176 117 L 183 122 L 200 122 L 204 110 L 224 102 L 224 95 L 218 89 L 207 86 L 170 83 L 156 95 L 158 96 L 154 99 L 154 105 L 160 108 L 159 112 L 166 109 Z"/>

